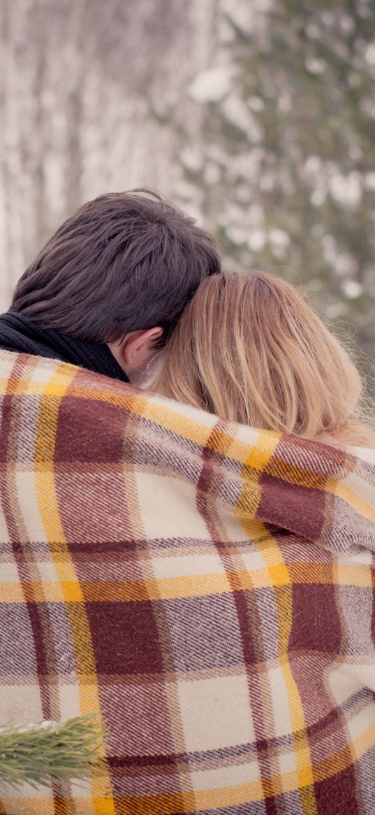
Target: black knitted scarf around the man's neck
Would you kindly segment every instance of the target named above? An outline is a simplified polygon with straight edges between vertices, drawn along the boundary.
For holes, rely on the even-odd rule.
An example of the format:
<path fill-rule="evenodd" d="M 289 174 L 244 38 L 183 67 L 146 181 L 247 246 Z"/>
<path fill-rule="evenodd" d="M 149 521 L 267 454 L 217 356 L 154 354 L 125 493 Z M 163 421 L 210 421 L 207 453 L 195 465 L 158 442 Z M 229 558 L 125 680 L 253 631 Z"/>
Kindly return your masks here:
<path fill-rule="evenodd" d="M 106 377 L 129 382 L 105 343 L 77 340 L 54 328 L 39 328 L 13 308 L 7 314 L 0 315 L 0 348 L 19 354 L 61 359 L 62 362 L 80 365 Z"/>

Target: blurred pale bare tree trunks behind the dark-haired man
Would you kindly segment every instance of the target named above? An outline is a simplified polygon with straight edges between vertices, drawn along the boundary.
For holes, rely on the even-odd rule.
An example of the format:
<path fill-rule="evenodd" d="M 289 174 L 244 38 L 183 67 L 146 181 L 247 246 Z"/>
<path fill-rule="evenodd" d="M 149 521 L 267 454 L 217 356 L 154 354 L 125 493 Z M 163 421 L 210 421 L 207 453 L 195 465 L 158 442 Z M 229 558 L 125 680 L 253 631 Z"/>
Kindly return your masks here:
<path fill-rule="evenodd" d="M 183 200 L 162 120 L 185 108 L 200 149 L 189 88 L 216 64 L 218 2 L 2 0 L 0 311 L 84 200 L 138 186 Z"/>

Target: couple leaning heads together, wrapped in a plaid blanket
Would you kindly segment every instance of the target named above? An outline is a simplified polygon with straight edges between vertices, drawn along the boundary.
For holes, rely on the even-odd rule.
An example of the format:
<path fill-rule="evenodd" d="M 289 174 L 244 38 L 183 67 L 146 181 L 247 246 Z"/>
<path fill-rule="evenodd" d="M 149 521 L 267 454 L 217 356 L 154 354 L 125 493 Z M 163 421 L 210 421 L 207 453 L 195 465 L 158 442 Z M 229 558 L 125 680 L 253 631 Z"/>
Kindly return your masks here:
<path fill-rule="evenodd" d="M 97 711 L 104 760 L 0 812 L 374 815 L 375 431 L 347 351 L 147 191 L 59 228 L 0 349 L 0 724 Z"/>

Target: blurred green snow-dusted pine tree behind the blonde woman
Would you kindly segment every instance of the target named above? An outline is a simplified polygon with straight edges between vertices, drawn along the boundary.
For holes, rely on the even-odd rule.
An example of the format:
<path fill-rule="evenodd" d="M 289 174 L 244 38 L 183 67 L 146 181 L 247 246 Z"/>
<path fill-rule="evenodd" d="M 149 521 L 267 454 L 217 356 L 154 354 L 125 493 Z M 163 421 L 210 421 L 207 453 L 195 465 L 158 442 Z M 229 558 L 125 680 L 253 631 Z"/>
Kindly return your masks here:
<path fill-rule="evenodd" d="M 371 0 L 220 0 L 216 67 L 190 89 L 198 138 L 179 121 L 181 197 L 199 196 L 227 266 L 302 280 L 370 353 L 374 32 Z"/>

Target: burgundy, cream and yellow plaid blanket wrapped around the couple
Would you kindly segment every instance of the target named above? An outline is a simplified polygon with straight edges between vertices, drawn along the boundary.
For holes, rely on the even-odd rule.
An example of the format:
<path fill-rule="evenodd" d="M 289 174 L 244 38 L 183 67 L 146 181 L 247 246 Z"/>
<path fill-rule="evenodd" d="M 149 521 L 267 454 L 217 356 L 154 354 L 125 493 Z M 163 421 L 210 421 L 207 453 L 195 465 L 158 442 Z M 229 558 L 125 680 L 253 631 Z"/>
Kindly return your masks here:
<path fill-rule="evenodd" d="M 7 815 L 373 815 L 375 454 L 0 352 L 0 722 L 105 770 Z"/>

